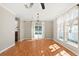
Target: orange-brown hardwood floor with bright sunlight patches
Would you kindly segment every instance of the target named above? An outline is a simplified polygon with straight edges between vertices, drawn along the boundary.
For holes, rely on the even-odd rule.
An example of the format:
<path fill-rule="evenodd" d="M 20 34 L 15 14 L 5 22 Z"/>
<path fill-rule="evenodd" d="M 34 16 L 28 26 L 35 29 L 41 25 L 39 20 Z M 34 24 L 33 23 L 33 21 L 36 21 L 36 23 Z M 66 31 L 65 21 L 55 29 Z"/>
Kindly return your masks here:
<path fill-rule="evenodd" d="M 1 56 L 75 56 L 75 54 L 54 40 L 24 40 L 0 54 Z"/>

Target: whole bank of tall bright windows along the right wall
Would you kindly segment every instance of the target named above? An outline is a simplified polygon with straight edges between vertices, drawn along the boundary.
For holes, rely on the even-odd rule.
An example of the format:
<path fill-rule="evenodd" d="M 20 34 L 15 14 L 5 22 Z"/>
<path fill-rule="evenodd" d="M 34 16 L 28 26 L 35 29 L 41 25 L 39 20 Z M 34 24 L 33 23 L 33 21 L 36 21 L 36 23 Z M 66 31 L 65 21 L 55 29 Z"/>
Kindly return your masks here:
<path fill-rule="evenodd" d="M 57 39 L 78 48 L 78 8 L 57 18 Z"/>

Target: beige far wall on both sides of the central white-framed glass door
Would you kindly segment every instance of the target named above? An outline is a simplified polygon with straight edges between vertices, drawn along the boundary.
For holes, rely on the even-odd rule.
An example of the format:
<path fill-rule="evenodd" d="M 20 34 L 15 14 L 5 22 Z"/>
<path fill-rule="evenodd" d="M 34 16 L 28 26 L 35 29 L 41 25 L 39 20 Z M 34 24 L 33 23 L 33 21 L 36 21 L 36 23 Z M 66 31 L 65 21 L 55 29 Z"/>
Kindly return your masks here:
<path fill-rule="evenodd" d="M 53 38 L 53 21 L 43 21 L 44 22 L 44 26 L 45 26 L 45 38 Z M 32 22 L 31 21 L 24 21 L 24 25 L 23 22 L 21 21 L 21 34 L 20 36 L 21 39 L 31 39 L 32 38 Z M 24 29 L 23 29 L 24 28 Z M 24 31 L 23 31 L 24 30 Z M 24 34 L 23 34 L 24 33 Z"/>

